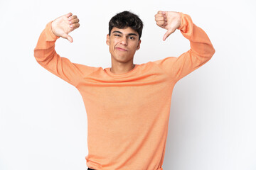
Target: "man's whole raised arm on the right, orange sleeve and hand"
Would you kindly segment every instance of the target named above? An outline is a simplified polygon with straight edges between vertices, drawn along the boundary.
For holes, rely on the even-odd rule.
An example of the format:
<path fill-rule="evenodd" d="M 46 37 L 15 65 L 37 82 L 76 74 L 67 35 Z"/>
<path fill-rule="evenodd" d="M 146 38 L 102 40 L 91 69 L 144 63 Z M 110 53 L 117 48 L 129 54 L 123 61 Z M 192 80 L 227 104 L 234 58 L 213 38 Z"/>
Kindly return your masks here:
<path fill-rule="evenodd" d="M 190 41 L 191 49 L 179 57 L 167 57 L 156 61 L 175 81 L 198 69 L 208 62 L 215 53 L 215 49 L 206 33 L 196 26 L 190 16 L 178 12 L 159 11 L 155 15 L 157 26 L 167 30 L 163 40 L 181 30 L 182 35 Z"/>

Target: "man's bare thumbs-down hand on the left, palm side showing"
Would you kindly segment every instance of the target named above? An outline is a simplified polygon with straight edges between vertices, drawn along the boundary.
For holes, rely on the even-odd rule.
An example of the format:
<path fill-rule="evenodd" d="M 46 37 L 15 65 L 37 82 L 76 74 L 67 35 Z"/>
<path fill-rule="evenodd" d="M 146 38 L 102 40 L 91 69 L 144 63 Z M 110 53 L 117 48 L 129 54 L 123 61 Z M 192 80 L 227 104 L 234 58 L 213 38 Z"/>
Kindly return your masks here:
<path fill-rule="evenodd" d="M 68 35 L 71 31 L 75 30 L 80 26 L 78 23 L 79 19 L 77 16 L 73 16 L 72 13 L 65 14 L 64 16 L 60 16 L 56 18 L 52 22 L 52 30 L 53 33 L 65 39 L 68 39 L 70 42 L 73 42 L 73 38 Z"/>

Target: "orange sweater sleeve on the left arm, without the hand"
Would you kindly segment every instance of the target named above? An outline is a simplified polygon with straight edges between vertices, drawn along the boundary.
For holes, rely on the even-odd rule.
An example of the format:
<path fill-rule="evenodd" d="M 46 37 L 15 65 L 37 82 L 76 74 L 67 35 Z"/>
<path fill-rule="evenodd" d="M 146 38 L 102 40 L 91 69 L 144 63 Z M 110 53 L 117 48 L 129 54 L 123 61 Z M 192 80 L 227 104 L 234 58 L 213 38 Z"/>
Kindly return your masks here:
<path fill-rule="evenodd" d="M 70 62 L 68 58 L 60 57 L 55 52 L 55 41 L 59 37 L 53 34 L 51 23 L 52 21 L 46 25 L 41 33 L 34 49 L 34 57 L 43 68 L 76 87 L 82 79 L 83 73 L 90 72 L 95 67 L 75 64 Z"/>

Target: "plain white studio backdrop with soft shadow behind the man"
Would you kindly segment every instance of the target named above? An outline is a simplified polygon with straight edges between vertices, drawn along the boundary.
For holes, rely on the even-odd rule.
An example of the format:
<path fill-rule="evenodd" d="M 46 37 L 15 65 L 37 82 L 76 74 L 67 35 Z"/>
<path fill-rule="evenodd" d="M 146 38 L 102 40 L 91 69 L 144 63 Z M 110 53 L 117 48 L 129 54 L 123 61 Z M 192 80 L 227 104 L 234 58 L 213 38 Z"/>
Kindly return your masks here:
<path fill-rule="evenodd" d="M 255 170 L 255 1 L 0 1 L 0 169 L 87 169 L 87 115 L 75 87 L 43 69 L 33 49 L 46 24 L 72 12 L 80 28 L 59 39 L 70 61 L 111 67 L 108 21 L 144 22 L 135 64 L 189 50 L 179 30 L 162 41 L 157 11 L 180 11 L 208 34 L 215 55 L 176 84 L 164 170 Z"/>

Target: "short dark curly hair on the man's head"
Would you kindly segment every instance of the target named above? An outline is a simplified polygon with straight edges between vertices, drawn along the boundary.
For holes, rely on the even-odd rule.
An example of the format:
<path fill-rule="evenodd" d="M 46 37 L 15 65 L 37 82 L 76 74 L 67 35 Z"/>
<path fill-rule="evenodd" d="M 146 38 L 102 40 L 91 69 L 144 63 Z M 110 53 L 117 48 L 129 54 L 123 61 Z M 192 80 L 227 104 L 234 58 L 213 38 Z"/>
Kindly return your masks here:
<path fill-rule="evenodd" d="M 139 16 L 129 11 L 117 13 L 110 19 L 109 35 L 111 33 L 112 28 L 114 27 L 119 29 L 130 27 L 133 30 L 137 31 L 137 33 L 139 34 L 139 40 L 142 37 L 143 22 L 139 18 Z"/>

